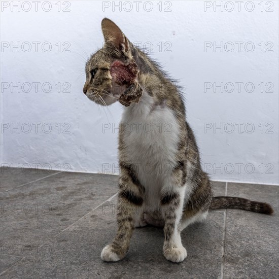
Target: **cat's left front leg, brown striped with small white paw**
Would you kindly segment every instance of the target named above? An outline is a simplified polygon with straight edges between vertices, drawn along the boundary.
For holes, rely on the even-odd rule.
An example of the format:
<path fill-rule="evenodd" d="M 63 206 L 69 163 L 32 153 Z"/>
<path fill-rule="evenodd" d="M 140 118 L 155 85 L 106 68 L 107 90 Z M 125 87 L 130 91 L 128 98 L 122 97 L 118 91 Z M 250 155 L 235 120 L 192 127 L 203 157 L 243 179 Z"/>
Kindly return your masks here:
<path fill-rule="evenodd" d="M 144 201 L 143 194 L 144 187 L 132 177 L 131 168 L 122 165 L 117 206 L 118 230 L 113 242 L 101 252 L 103 261 L 116 262 L 125 257 L 130 246 L 136 215 Z"/>

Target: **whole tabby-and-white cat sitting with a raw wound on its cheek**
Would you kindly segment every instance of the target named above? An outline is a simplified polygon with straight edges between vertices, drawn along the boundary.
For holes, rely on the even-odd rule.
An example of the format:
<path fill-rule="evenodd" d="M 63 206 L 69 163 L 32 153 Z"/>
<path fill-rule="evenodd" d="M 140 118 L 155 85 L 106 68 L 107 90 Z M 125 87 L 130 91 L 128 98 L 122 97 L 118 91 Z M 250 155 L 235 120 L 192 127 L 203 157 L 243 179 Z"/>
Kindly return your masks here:
<path fill-rule="evenodd" d="M 105 42 L 86 63 L 83 92 L 103 106 L 121 100 L 121 127 L 132 126 L 119 132 L 118 231 L 103 248 L 101 259 L 123 259 L 134 227 L 150 224 L 163 227 L 165 258 L 181 262 L 187 252 L 180 232 L 204 220 L 208 210 L 240 208 L 272 214 L 264 202 L 213 197 L 186 121 L 181 88 L 113 21 L 104 18 L 101 28 Z"/>

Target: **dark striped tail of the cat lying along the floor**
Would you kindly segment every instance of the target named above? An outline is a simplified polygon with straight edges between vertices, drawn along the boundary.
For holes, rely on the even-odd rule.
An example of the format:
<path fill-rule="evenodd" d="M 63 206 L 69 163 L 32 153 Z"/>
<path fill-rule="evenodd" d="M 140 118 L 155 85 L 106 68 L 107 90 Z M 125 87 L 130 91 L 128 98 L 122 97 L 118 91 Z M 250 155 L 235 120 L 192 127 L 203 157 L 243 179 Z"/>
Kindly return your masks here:
<path fill-rule="evenodd" d="M 268 215 L 273 213 L 273 208 L 266 202 L 238 197 L 213 197 L 210 210 L 217 210 L 220 208 L 247 210 Z"/>

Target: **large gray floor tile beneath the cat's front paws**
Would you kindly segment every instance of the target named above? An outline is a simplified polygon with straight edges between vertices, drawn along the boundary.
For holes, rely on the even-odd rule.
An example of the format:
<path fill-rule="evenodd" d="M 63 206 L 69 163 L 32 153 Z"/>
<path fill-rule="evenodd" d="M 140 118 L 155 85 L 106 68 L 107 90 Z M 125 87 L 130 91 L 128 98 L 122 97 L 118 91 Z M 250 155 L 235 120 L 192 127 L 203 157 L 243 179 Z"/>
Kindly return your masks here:
<path fill-rule="evenodd" d="M 102 262 L 101 249 L 116 232 L 116 198 L 106 202 L 55 239 L 50 251 L 39 249 L 5 272 L 3 278 L 217 278 L 221 272 L 223 213 L 210 214 L 204 223 L 189 226 L 182 233 L 188 256 L 180 264 L 163 257 L 163 230 L 135 229 L 124 260 Z M 59 248 L 59 253 L 57 252 Z"/>

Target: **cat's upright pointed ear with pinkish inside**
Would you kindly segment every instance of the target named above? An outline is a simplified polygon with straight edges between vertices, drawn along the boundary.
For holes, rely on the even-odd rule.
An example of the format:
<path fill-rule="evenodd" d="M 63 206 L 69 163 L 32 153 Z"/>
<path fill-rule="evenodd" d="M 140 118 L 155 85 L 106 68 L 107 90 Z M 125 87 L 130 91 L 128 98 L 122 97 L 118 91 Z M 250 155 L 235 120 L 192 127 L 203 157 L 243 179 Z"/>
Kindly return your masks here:
<path fill-rule="evenodd" d="M 108 44 L 112 44 L 120 51 L 129 50 L 129 42 L 125 35 L 122 33 L 120 28 L 110 19 L 104 18 L 101 23 L 102 33 L 104 41 Z"/>

